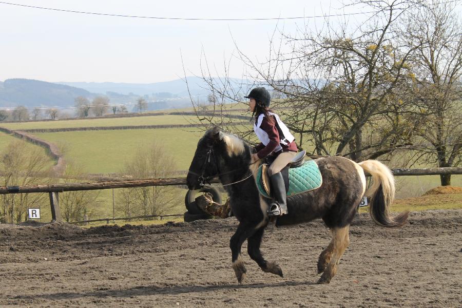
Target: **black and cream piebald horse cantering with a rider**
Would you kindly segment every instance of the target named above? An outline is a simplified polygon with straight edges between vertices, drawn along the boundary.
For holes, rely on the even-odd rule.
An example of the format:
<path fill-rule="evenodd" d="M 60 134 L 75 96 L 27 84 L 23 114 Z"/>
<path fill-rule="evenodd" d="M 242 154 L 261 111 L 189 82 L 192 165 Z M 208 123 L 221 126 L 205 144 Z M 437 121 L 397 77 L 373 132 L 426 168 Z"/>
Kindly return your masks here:
<path fill-rule="evenodd" d="M 271 200 L 264 198 L 255 182 L 258 161 L 251 163 L 253 147 L 234 134 L 218 127 L 207 130 L 199 140 L 186 177 L 189 189 L 199 189 L 211 178 L 218 177 L 229 195 L 229 202 L 239 225 L 229 241 L 232 267 L 239 283 L 246 268 L 241 259 L 241 247 L 247 240 L 247 252 L 263 272 L 283 277 L 275 261 L 267 261 L 260 251 L 263 233 L 268 225 L 267 209 Z M 349 227 L 363 198 L 368 196 L 369 213 L 373 221 L 384 227 L 399 227 L 406 223 L 409 212 L 396 217 L 389 214 L 395 185 L 390 169 L 377 160 L 356 163 L 347 158 L 331 156 L 315 160 L 322 175 L 322 184 L 315 190 L 287 197 L 288 214 L 277 217 L 276 226 L 294 225 L 321 218 L 332 232 L 332 240 L 321 252 L 317 268 L 318 283 L 330 283 L 337 264 L 347 249 Z M 372 185 L 366 189 L 364 171 L 372 175 Z"/>

